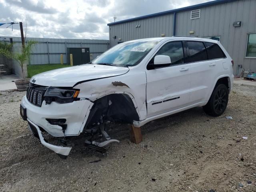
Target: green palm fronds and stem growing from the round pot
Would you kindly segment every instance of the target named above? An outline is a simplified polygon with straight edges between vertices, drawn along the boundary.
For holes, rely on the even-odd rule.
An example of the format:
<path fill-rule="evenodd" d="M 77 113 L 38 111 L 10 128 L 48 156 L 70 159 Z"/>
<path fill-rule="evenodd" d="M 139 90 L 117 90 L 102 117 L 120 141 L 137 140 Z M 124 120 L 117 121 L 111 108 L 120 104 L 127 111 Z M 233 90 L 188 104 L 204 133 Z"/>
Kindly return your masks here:
<path fill-rule="evenodd" d="M 32 48 L 36 43 L 37 43 L 36 41 L 30 40 L 24 46 L 22 46 L 21 52 L 16 52 L 16 53 L 12 53 L 11 49 L 8 47 L 0 47 L 0 54 L 2 54 L 6 58 L 12 58 L 12 59 L 16 60 L 20 64 L 23 81 L 26 80 L 26 76 L 24 75 L 23 66 L 26 63 L 26 61 L 28 60 L 28 58 L 32 52 Z"/>

